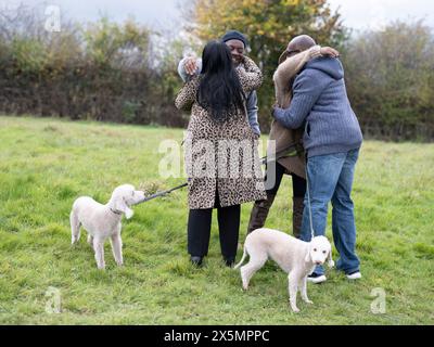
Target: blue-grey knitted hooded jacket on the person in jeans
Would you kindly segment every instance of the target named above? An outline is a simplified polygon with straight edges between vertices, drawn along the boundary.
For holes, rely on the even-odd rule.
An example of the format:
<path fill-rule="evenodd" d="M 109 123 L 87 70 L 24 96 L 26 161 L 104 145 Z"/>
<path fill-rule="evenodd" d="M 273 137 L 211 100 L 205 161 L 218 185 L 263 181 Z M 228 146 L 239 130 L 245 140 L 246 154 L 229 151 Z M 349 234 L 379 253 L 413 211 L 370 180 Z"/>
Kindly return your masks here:
<path fill-rule="evenodd" d="M 344 68 L 337 59 L 308 62 L 293 86 L 289 108 L 275 107 L 273 116 L 286 128 L 305 125 L 308 157 L 360 147 L 362 134 L 346 93 Z"/>

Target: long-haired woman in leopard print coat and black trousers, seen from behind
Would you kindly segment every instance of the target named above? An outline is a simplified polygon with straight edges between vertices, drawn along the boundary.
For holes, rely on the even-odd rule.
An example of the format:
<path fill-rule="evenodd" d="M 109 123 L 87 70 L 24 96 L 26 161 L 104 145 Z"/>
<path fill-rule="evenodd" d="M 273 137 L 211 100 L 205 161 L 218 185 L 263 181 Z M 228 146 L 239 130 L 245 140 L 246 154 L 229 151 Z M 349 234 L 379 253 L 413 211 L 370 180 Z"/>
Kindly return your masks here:
<path fill-rule="evenodd" d="M 221 250 L 227 264 L 231 265 L 237 255 L 240 205 L 264 200 L 266 194 L 257 136 L 248 124 L 245 98 L 242 107 L 230 108 L 224 120 L 217 120 L 213 110 L 199 102 L 201 80 L 206 78 L 206 74 L 210 75 L 206 72 L 206 61 L 216 59 L 205 52 L 207 49 L 215 52 L 213 48 L 220 50 L 224 56 L 221 64 L 230 64 L 230 68 L 234 68 L 225 43 L 208 43 L 204 50 L 202 74 L 183 86 L 175 103 L 180 110 L 191 110 L 184 142 L 189 177 L 189 253 L 193 262 L 202 264 L 208 248 L 212 209 L 217 207 Z M 215 68 L 213 64 L 208 66 L 208 69 Z M 260 69 L 248 57 L 243 59 L 235 73 L 244 94 L 261 85 Z M 216 93 L 225 86 L 222 80 L 216 86 Z"/>

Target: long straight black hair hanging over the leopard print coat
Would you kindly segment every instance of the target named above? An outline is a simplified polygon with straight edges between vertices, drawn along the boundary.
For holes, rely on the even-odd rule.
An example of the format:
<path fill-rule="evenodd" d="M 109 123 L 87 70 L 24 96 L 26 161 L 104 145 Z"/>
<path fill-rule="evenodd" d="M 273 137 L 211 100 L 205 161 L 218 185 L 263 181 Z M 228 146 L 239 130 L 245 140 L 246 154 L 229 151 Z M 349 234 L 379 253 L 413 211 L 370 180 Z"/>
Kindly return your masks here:
<path fill-rule="evenodd" d="M 217 121 L 244 108 L 245 94 L 226 43 L 208 42 L 202 54 L 197 103 Z"/>

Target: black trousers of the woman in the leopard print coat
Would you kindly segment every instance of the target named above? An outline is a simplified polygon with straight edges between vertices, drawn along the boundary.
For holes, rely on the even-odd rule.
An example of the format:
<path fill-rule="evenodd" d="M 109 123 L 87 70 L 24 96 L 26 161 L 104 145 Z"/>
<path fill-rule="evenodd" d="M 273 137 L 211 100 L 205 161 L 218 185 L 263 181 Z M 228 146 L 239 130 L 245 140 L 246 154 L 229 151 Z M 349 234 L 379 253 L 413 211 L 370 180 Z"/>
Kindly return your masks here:
<path fill-rule="evenodd" d="M 216 191 L 218 229 L 221 254 L 225 259 L 237 256 L 240 233 L 241 206 L 221 207 Z M 188 250 L 191 256 L 204 257 L 208 254 L 213 208 L 190 209 L 188 223 Z"/>

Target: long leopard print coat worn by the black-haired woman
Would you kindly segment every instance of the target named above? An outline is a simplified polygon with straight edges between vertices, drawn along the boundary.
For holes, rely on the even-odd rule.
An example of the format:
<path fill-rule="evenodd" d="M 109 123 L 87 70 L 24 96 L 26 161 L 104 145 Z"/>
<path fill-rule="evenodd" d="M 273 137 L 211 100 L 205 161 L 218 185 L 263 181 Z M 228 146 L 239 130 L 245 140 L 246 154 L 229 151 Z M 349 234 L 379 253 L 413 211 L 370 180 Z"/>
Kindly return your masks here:
<path fill-rule="evenodd" d="M 237 67 L 237 74 L 245 94 L 261 85 L 261 72 L 248 57 Z M 216 207 L 216 194 L 221 207 L 265 200 L 258 137 L 252 131 L 245 107 L 225 121 L 215 121 L 196 101 L 200 78 L 188 81 L 175 101 L 179 110 L 191 110 L 184 139 L 189 208 Z"/>

